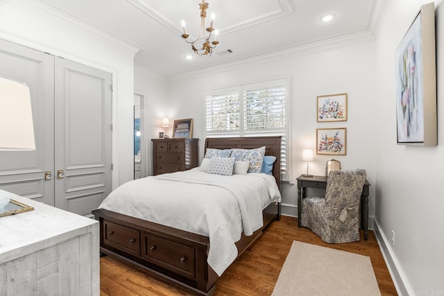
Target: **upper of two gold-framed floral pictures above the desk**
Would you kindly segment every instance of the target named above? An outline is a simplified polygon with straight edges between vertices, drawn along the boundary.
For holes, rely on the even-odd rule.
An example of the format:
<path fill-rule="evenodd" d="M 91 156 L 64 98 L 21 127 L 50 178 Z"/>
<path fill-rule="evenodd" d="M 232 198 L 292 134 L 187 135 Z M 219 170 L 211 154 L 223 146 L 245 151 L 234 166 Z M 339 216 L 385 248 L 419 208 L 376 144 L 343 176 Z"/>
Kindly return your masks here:
<path fill-rule="evenodd" d="M 318 122 L 347 121 L 347 94 L 317 96 Z"/>

